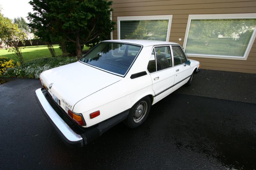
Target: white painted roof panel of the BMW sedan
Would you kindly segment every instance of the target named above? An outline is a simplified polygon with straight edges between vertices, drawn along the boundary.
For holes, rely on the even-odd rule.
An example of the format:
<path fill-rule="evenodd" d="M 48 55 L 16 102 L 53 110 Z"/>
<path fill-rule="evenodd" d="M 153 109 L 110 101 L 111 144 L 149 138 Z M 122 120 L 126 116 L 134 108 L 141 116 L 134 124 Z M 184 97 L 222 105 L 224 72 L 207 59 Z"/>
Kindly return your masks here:
<path fill-rule="evenodd" d="M 177 43 L 175 43 L 175 42 L 156 41 L 156 40 L 106 40 L 106 41 L 138 44 L 138 45 L 142 45 L 142 46 L 144 46 L 144 47 L 147 47 L 147 46 L 154 46 L 154 45 L 164 45 L 164 44 L 177 44 Z M 103 42 L 104 42 L 104 41 L 103 41 Z"/>

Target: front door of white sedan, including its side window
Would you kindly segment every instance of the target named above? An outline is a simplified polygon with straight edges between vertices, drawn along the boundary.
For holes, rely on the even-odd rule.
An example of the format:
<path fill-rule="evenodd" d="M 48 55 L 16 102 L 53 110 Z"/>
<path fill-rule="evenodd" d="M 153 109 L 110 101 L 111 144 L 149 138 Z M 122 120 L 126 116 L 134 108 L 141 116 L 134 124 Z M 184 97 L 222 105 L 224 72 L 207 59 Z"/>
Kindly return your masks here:
<path fill-rule="evenodd" d="M 172 45 L 173 63 L 175 68 L 175 80 L 172 91 L 188 82 L 191 76 L 190 65 L 185 65 L 187 58 L 179 45 Z"/>

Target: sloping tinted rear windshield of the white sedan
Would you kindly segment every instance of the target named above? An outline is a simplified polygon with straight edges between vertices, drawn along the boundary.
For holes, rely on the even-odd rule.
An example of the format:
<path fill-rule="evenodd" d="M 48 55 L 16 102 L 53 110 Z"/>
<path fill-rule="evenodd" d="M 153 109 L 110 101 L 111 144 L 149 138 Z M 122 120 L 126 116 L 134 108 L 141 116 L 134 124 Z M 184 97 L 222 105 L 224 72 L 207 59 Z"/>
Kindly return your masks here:
<path fill-rule="evenodd" d="M 140 48 L 141 46 L 137 45 L 102 42 L 80 61 L 119 75 L 125 75 Z"/>

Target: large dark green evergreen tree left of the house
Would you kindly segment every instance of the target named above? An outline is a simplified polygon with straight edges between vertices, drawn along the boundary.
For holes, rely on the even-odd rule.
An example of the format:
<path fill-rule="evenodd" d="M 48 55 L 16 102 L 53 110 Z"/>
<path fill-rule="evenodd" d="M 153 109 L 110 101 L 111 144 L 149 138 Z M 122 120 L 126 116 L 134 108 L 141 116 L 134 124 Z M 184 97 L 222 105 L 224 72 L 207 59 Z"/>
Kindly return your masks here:
<path fill-rule="evenodd" d="M 31 0 L 29 3 L 36 11 L 28 14 L 29 27 L 37 36 L 45 31 L 43 37 L 60 36 L 62 41 L 74 43 L 77 59 L 82 57 L 82 45 L 104 40 L 114 29 L 115 23 L 110 20 L 112 2 L 108 0 Z"/>

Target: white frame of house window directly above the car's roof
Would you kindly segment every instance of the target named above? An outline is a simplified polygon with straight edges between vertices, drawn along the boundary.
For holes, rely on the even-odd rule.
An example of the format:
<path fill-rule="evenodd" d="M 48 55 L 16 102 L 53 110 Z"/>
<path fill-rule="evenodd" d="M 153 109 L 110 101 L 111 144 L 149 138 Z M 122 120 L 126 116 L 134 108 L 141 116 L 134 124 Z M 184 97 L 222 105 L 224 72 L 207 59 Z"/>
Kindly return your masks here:
<path fill-rule="evenodd" d="M 172 15 L 148 15 L 148 16 L 125 16 L 117 17 L 117 39 L 120 40 L 120 21 L 129 20 L 166 20 L 168 19 L 168 28 L 166 41 L 170 39 L 171 25 L 172 25 Z"/>

